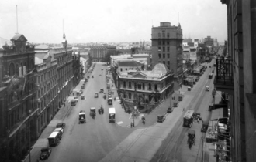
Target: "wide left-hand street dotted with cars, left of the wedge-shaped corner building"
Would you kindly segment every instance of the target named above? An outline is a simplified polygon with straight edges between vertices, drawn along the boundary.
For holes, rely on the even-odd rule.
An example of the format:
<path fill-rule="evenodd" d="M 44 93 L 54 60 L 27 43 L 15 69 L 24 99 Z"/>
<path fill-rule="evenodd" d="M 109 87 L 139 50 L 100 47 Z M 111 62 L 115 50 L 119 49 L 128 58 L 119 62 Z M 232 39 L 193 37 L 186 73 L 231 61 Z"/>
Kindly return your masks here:
<path fill-rule="evenodd" d="M 104 68 L 104 70 L 101 70 Z M 102 73 L 102 76 L 99 76 Z M 117 144 L 126 138 L 133 130 L 118 127 L 115 123 L 109 123 L 109 106 L 103 99 L 99 89 L 106 92 L 106 66 L 96 64 L 88 83 L 83 89 L 85 100 L 79 101 L 76 106 L 71 106 L 64 123 L 66 128 L 59 146 L 53 148 L 53 152 L 47 161 L 99 161 L 105 157 Z M 80 83 L 77 89 L 80 90 Z M 99 98 L 94 94 L 99 93 Z M 98 113 L 99 106 L 104 107 L 104 114 Z M 91 107 L 96 108 L 95 119 L 89 114 Z M 86 123 L 78 124 L 78 113 L 85 110 Z"/>

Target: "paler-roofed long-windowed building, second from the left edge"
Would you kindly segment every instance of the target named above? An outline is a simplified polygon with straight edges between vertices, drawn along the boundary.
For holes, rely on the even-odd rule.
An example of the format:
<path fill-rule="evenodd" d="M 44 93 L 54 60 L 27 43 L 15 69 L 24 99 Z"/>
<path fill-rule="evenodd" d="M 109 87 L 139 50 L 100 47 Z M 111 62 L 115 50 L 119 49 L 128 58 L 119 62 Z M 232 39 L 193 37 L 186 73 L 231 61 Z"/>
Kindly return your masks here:
<path fill-rule="evenodd" d="M 36 49 L 49 48 L 45 45 Z M 37 130 L 39 137 L 50 120 L 57 113 L 57 60 L 49 54 L 49 50 L 36 52 L 36 86 L 37 86 Z"/>

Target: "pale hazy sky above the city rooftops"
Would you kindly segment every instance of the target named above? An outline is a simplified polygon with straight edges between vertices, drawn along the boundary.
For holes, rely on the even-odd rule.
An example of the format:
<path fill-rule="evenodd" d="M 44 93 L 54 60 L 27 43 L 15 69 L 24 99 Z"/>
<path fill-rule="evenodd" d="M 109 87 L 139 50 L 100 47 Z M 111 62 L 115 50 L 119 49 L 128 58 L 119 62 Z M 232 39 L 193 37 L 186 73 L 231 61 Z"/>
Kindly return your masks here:
<path fill-rule="evenodd" d="M 29 42 L 150 41 L 160 22 L 182 26 L 183 39 L 227 40 L 227 5 L 220 0 L 8 0 L 0 5 L 0 37 Z"/>

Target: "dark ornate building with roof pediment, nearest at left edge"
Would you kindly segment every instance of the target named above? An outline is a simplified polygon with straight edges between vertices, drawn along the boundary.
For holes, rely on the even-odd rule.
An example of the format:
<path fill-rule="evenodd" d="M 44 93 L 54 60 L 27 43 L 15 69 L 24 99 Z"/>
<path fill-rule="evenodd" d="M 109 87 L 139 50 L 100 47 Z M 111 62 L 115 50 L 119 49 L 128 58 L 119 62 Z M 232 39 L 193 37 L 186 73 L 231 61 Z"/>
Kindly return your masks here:
<path fill-rule="evenodd" d="M 36 78 L 34 46 L 22 34 L 0 53 L 1 160 L 20 161 L 36 139 Z"/>

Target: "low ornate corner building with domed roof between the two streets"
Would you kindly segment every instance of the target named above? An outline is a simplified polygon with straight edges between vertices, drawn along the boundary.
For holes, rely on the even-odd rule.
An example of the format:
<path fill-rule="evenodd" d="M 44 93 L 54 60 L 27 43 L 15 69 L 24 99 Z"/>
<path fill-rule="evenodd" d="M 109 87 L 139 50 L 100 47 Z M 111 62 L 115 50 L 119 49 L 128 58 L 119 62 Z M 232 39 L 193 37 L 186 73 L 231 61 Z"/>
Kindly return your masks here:
<path fill-rule="evenodd" d="M 157 103 L 174 93 L 174 73 L 164 64 L 158 63 L 152 71 L 137 71 L 118 73 L 119 92 L 124 100 L 142 98 L 148 102 Z"/>

